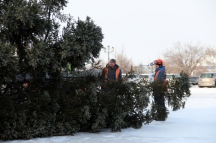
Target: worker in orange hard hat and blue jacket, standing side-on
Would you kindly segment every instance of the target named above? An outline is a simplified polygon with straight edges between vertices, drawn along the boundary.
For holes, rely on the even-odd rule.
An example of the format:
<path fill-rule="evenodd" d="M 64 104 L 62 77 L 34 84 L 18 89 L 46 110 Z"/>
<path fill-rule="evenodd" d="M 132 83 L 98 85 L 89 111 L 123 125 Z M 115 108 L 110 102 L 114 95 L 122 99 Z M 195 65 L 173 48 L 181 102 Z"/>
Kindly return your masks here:
<path fill-rule="evenodd" d="M 166 68 L 164 66 L 163 60 L 158 59 L 155 61 L 155 75 L 154 75 L 154 89 L 153 96 L 154 101 L 157 106 L 157 111 L 155 115 L 155 120 L 165 121 L 167 118 L 167 110 L 165 107 L 164 92 L 166 91 Z"/>

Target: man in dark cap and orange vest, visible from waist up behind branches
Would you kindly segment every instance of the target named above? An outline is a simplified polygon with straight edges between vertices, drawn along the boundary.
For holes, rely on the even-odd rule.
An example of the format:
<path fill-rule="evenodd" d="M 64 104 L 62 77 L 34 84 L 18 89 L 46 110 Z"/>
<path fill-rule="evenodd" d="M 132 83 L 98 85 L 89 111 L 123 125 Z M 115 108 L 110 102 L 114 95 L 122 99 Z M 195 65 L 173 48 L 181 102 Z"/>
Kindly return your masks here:
<path fill-rule="evenodd" d="M 115 59 L 111 59 L 109 61 L 109 64 L 107 64 L 107 66 L 103 69 L 102 77 L 104 79 L 104 82 L 107 82 L 109 80 L 117 81 L 118 79 L 122 79 L 122 71 L 116 64 Z"/>

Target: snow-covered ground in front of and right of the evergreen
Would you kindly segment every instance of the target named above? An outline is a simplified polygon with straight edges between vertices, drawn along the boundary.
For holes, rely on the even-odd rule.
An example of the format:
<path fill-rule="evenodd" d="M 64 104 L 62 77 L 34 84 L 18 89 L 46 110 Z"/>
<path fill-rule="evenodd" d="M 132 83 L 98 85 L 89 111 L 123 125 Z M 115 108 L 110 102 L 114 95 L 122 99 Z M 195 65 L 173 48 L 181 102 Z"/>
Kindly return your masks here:
<path fill-rule="evenodd" d="M 154 121 L 141 129 L 117 133 L 107 129 L 100 133 L 4 143 L 216 143 L 216 88 L 193 87 L 191 93 L 185 109 L 171 111 L 167 121 Z"/>

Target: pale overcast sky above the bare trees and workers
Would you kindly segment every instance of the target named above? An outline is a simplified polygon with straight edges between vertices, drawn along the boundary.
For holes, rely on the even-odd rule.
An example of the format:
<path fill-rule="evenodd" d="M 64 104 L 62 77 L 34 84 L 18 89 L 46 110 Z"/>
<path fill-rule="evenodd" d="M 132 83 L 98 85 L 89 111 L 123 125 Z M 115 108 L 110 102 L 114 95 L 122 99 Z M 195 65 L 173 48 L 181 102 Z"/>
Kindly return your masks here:
<path fill-rule="evenodd" d="M 177 42 L 216 47 L 216 0 L 69 0 L 64 13 L 91 17 L 103 45 L 124 49 L 135 64 L 163 58 Z"/>

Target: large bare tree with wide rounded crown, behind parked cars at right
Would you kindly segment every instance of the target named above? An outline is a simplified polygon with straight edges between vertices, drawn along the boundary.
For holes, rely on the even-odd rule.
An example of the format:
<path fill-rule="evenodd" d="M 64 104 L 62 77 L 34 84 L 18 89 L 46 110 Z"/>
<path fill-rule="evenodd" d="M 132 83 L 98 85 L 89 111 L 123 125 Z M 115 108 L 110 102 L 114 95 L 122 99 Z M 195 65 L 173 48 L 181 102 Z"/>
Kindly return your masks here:
<path fill-rule="evenodd" d="M 168 50 L 164 53 L 165 57 L 165 66 L 167 72 L 170 73 L 180 73 L 184 71 L 188 75 L 191 75 L 193 71 L 199 69 L 204 70 L 202 65 L 207 63 L 212 49 L 204 46 L 184 44 L 180 42 L 175 45 L 174 48 Z"/>

